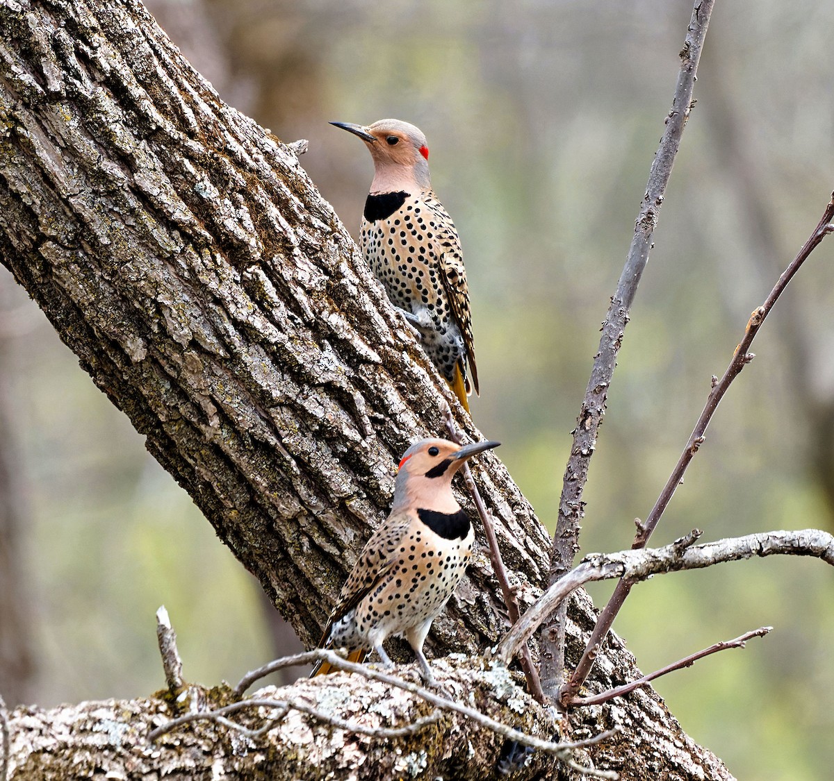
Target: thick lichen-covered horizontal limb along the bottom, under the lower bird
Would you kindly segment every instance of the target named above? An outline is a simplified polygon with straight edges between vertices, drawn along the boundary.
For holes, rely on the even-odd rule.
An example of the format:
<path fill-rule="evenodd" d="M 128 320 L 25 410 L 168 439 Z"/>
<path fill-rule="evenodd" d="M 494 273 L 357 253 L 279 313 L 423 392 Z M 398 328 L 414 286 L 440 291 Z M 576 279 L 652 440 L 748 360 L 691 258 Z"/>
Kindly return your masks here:
<path fill-rule="evenodd" d="M 435 672 L 456 700 L 477 703 L 490 719 L 525 734 L 539 735 L 545 742 L 558 737 L 547 710 L 518 686 L 520 676 L 504 668 L 472 664 L 471 659 L 460 656 L 441 660 Z M 18 708 L 10 719 L 9 778 L 67 778 L 63 754 L 70 744 L 73 778 L 92 778 L 98 773 L 130 781 L 196 779 L 212 777 L 223 768 L 229 777 L 239 779 L 324 779 L 328 774 L 338 779 L 348 777 L 358 767 L 363 768 L 363 777 L 374 779 L 409 778 L 412 774 L 425 778 L 445 774 L 460 781 L 500 777 L 496 767 L 507 740 L 504 735 L 449 712 L 442 712 L 435 723 L 426 724 L 426 719 L 435 714 L 435 706 L 420 694 L 392 689 L 384 681 L 334 673 L 328 676 L 326 688 L 316 679 L 300 679 L 280 689 L 260 689 L 253 699 L 268 700 L 269 705 L 234 715 L 239 724 L 254 730 L 280 715 L 274 703 L 289 701 L 323 711 L 334 720 L 359 724 L 371 734 L 339 729 L 299 709 L 287 709 L 283 718 L 276 719 L 256 739 L 209 718 L 183 724 L 150 740 L 152 731 L 166 726 L 175 714 L 163 699 L 107 700 L 56 709 Z M 193 687 L 183 704 L 185 713 L 221 709 L 232 704 L 231 691 Z M 374 734 L 375 730 L 407 727 L 419 720 L 423 729 L 415 734 L 385 739 L 384 733 Z M 645 729 L 639 734 L 641 739 L 652 739 Z M 29 740 L 33 735 L 38 736 L 36 741 Z M 625 750 L 625 746 L 622 748 Z M 552 755 L 536 752 L 515 778 L 541 777 L 553 765 Z"/>

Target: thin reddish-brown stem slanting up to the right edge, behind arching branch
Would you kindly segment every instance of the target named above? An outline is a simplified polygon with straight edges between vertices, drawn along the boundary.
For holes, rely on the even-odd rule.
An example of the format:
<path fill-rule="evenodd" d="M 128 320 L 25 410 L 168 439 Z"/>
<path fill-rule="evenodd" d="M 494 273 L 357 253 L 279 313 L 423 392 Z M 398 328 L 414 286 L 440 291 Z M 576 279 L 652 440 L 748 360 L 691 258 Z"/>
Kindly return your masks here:
<path fill-rule="evenodd" d="M 828 202 L 821 220 L 811 232 L 811 236 L 808 237 L 808 240 L 802 246 L 799 253 L 787 266 L 785 271 L 782 272 L 779 280 L 776 281 L 776 285 L 773 286 L 770 295 L 767 296 L 766 301 L 751 314 L 750 320 L 747 321 L 744 336 L 739 345 L 736 346 L 736 351 L 733 353 L 732 360 L 730 361 L 730 365 L 727 366 L 724 376 L 717 383 L 711 383 L 710 395 L 707 397 L 706 405 L 704 405 L 704 409 L 701 411 L 695 429 L 686 442 L 686 447 L 684 447 L 681 457 L 675 465 L 675 469 L 672 470 L 669 480 L 666 480 L 666 485 L 661 490 L 661 494 L 658 496 L 655 506 L 651 509 L 651 513 L 646 518 L 646 522 L 638 526 L 635 540 L 632 543 L 633 548 L 644 547 L 651 537 L 651 533 L 656 529 L 658 521 L 661 520 L 661 515 L 666 510 L 666 506 L 669 504 L 672 495 L 674 495 L 678 485 L 681 485 L 686 468 L 690 465 L 691 460 L 695 457 L 704 441 L 706 427 L 710 424 L 712 415 L 715 414 L 719 402 L 724 397 L 732 381 L 736 379 L 741 373 L 741 370 L 753 359 L 753 354 L 749 352 L 749 349 L 762 323 L 764 323 L 766 317 L 776 304 L 776 301 L 778 301 L 779 296 L 781 296 L 782 291 L 785 290 L 788 282 L 796 274 L 796 271 L 799 271 L 802 264 L 811 255 L 811 252 L 816 249 L 816 246 L 819 245 L 822 239 L 834 231 L 834 225 L 831 224 L 832 218 L 834 218 L 834 193 L 831 194 L 831 200 Z M 579 664 L 576 665 L 574 674 L 571 675 L 570 680 L 560 689 L 560 700 L 570 701 L 574 699 L 582 684 L 585 683 L 593 667 L 595 654 L 602 647 L 602 643 L 611 628 L 611 624 L 614 623 L 614 619 L 620 612 L 625 598 L 631 591 L 631 585 L 629 580 L 621 580 L 616 585 L 614 593 L 611 594 L 608 600 L 608 604 L 605 605 L 605 608 L 596 621 L 588 644 L 585 647 L 585 653 L 582 654 Z"/>

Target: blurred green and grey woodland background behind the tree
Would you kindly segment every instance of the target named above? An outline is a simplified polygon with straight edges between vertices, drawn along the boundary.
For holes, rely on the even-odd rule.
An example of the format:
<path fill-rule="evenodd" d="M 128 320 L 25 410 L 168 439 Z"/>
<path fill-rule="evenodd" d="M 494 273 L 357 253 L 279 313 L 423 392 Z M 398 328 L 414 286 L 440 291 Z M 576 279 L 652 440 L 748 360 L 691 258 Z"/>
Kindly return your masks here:
<path fill-rule="evenodd" d="M 309 138 L 304 167 L 354 236 L 370 157 L 327 122 L 398 117 L 426 133 L 470 277 L 483 392 L 473 415 L 505 443 L 502 459 L 552 525 L 691 3 L 148 5 L 224 100 L 285 141 Z M 591 467 L 585 552 L 630 545 L 632 519 L 651 509 L 711 375 L 828 200 L 832 27 L 829 2 L 717 4 Z M 710 540 L 834 528 L 832 259 L 828 239 L 766 322 L 657 544 L 694 526 Z M 236 680 L 291 647 L 254 580 L 2 268 L 0 443 L 18 521 L 7 575 L 26 606 L 13 641 L 0 629 L 7 699 L 160 688 L 163 603 L 190 679 Z M 593 594 L 601 603 L 609 591 Z M 756 560 L 651 580 L 615 629 L 649 671 L 775 626 L 656 688 L 740 778 L 803 781 L 834 765 L 832 619 L 825 565 Z"/>

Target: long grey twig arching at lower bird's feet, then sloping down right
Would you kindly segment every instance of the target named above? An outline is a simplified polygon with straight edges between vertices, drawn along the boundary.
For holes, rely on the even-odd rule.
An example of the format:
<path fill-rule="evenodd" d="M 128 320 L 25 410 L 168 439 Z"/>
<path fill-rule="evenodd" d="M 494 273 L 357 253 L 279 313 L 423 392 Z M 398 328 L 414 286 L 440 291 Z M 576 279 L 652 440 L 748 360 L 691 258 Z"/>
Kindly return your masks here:
<path fill-rule="evenodd" d="M 403 689 L 404 691 L 420 697 L 420 699 L 424 699 L 427 703 L 434 705 L 435 708 L 460 714 L 466 719 L 470 719 L 476 724 L 480 724 L 480 726 L 485 729 L 489 729 L 495 734 L 499 734 L 508 740 L 515 740 L 522 745 L 530 746 L 533 749 L 539 749 L 540 751 L 545 751 L 549 754 L 555 754 L 560 758 L 570 754 L 576 749 L 584 749 L 587 746 L 600 742 L 600 740 L 608 739 L 616 732 L 616 730 L 609 730 L 608 732 L 595 736 L 595 738 L 580 740 L 575 743 L 554 743 L 550 740 L 542 740 L 540 738 L 536 738 L 534 735 L 525 734 L 517 729 L 513 729 L 507 724 L 496 721 L 495 719 L 490 718 L 490 716 L 482 714 L 480 710 L 469 708 L 464 704 L 455 702 L 454 700 L 445 699 L 445 697 L 442 697 L 440 694 L 436 694 L 430 689 L 425 689 L 418 684 L 413 684 L 410 681 L 397 678 L 395 675 L 374 669 L 368 664 L 356 664 L 355 662 L 349 662 L 347 659 L 339 656 L 339 654 L 336 654 L 334 651 L 324 648 L 314 649 L 312 651 L 307 651 L 304 654 L 296 654 L 295 656 L 287 657 L 286 659 L 278 659 L 276 662 L 265 664 L 264 667 L 259 670 L 253 670 L 252 672 L 247 673 L 235 687 L 234 691 L 236 693 L 245 691 L 254 683 L 255 680 L 263 678 L 264 675 L 268 675 L 273 672 L 274 669 L 279 669 L 279 667 L 289 666 L 290 664 L 309 664 L 310 662 L 318 661 L 319 659 L 322 659 L 328 664 L 331 664 L 333 667 L 342 669 L 345 672 L 361 675 L 365 679 L 379 681 L 380 683 L 394 686 L 397 689 Z"/>

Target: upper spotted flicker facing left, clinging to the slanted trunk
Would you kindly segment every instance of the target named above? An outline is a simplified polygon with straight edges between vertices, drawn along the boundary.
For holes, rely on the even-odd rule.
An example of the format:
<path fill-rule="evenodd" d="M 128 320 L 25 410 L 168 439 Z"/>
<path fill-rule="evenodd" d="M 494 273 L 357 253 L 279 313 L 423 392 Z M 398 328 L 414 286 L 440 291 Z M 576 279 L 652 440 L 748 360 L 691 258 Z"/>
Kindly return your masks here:
<path fill-rule="evenodd" d="M 469 288 L 455 223 L 431 189 L 425 136 L 399 119 L 330 124 L 359 136 L 374 158 L 359 231 L 365 260 L 469 411 L 472 386 L 478 393 Z"/>

